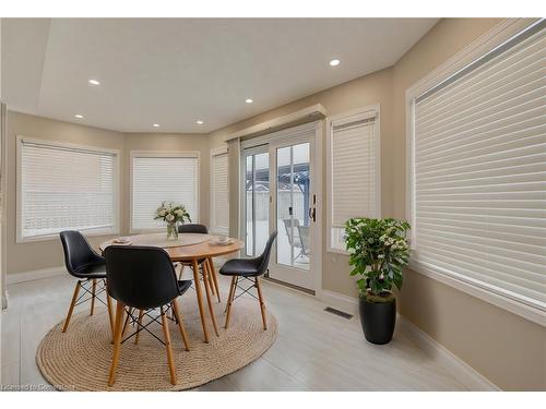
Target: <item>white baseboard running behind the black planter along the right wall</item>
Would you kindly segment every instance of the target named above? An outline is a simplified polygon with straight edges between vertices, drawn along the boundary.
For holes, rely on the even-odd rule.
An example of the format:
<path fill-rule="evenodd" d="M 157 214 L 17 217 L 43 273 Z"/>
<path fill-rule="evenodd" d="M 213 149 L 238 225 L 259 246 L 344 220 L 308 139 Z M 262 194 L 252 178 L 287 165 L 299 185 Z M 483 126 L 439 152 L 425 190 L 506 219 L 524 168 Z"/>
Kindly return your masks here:
<path fill-rule="evenodd" d="M 356 297 L 348 297 L 323 289 L 320 300 L 328 305 L 358 317 L 358 298 Z M 428 357 L 435 359 L 439 364 L 449 370 L 470 390 L 500 390 L 497 385 L 483 376 L 474 368 L 454 356 L 440 342 L 400 314 L 397 315 L 396 325 L 399 330 L 403 332 Z"/>

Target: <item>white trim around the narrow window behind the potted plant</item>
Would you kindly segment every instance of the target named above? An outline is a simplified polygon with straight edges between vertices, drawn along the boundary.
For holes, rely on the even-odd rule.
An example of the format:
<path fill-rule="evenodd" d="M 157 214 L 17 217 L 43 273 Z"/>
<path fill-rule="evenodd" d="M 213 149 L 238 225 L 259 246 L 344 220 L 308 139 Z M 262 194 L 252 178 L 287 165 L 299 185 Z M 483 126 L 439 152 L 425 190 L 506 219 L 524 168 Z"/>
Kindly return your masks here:
<path fill-rule="evenodd" d="M 376 116 L 376 129 L 375 129 L 375 147 L 376 149 L 376 208 L 378 212 L 378 218 L 381 217 L 381 107 L 379 104 L 370 105 L 367 107 L 361 107 L 353 109 L 347 112 L 335 115 L 327 118 L 327 251 L 329 253 L 337 253 L 347 255 L 346 250 L 332 248 L 332 218 L 333 218 L 333 197 L 332 197 L 332 154 L 333 154 L 333 137 L 332 137 L 332 122 L 337 122 L 340 120 L 351 120 L 353 118 L 369 116 L 375 113 Z"/>

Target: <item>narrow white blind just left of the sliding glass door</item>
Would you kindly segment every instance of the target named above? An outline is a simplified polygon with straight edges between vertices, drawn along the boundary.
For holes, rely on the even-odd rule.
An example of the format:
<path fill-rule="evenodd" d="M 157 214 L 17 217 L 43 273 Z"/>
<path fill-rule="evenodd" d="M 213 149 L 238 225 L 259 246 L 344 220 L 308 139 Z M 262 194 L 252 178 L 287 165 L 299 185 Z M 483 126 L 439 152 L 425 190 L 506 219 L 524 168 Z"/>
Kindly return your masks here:
<path fill-rule="evenodd" d="M 229 232 L 227 159 L 227 152 L 212 156 L 211 231 L 219 234 Z"/>

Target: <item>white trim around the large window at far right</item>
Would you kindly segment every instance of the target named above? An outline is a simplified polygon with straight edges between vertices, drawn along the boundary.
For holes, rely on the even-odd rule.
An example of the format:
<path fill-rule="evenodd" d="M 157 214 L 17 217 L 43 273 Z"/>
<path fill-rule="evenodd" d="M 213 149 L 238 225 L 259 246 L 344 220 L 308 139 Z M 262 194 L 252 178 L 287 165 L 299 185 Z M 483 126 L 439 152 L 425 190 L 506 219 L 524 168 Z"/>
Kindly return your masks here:
<path fill-rule="evenodd" d="M 415 98 L 429 89 L 435 84 L 444 81 L 460 70 L 464 69 L 466 65 L 468 65 L 471 62 L 478 59 L 486 52 L 489 52 L 494 48 L 506 43 L 508 39 L 519 34 L 521 31 L 525 29 L 538 20 L 539 19 L 507 19 L 502 21 L 490 32 L 476 39 L 462 51 L 447 60 L 436 70 L 434 70 L 428 75 L 406 89 L 406 217 L 412 226 L 415 226 Z M 414 248 L 416 241 L 413 230 L 411 242 L 412 248 Z M 527 303 L 521 298 L 511 297 L 510 293 L 506 290 L 499 289 L 485 282 L 477 282 L 470 277 L 430 268 L 415 261 L 410 262 L 410 268 L 426 277 L 430 277 L 460 291 L 508 310 L 536 324 L 546 326 L 546 312 L 533 306 L 532 302 Z"/>

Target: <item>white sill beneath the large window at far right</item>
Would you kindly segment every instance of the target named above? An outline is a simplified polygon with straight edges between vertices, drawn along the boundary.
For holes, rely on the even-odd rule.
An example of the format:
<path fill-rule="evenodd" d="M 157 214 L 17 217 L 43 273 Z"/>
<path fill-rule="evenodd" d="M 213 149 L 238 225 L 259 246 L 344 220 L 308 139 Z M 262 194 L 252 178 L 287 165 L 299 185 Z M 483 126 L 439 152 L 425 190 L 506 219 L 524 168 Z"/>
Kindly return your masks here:
<path fill-rule="evenodd" d="M 538 305 L 534 306 L 515 299 L 515 297 L 511 298 L 508 294 L 500 293 L 495 287 L 485 282 L 454 274 L 440 273 L 418 262 L 411 262 L 408 268 L 546 327 L 546 311 Z"/>

